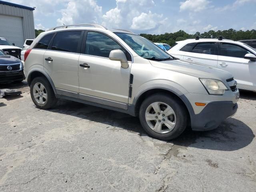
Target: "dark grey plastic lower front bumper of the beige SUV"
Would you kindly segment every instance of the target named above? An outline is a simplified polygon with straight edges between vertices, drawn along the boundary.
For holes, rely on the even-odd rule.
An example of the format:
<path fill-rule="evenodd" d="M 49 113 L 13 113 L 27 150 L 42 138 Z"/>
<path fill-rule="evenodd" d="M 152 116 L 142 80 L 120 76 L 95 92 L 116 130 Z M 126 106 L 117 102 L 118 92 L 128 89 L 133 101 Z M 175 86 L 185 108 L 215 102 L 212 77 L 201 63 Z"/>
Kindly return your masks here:
<path fill-rule="evenodd" d="M 238 105 L 231 101 L 210 102 L 199 114 L 191 116 L 191 128 L 195 131 L 215 129 L 223 120 L 233 116 L 237 109 Z"/>

